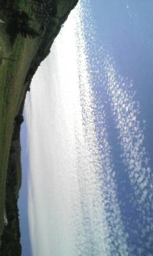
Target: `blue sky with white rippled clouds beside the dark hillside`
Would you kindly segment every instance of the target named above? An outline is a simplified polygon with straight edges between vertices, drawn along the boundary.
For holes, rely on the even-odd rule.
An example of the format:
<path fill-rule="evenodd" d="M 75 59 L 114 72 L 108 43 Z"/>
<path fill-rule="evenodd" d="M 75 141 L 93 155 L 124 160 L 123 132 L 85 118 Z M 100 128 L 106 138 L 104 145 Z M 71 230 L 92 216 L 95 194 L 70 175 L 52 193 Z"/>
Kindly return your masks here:
<path fill-rule="evenodd" d="M 36 72 L 22 126 L 23 255 L 152 255 L 152 8 L 80 1 Z"/>

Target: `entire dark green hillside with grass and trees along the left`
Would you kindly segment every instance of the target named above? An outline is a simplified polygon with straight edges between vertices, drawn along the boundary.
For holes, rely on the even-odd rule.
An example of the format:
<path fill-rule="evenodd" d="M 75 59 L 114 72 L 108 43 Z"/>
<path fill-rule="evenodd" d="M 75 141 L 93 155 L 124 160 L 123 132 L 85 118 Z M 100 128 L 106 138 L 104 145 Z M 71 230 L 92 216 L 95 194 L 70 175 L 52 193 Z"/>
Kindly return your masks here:
<path fill-rule="evenodd" d="M 10 255 L 9 250 L 14 250 L 13 244 L 20 251 L 20 246 L 17 246 L 20 241 L 17 199 L 22 180 L 20 125 L 25 95 L 30 90 L 34 73 L 49 54 L 55 37 L 77 1 L 0 0 L 0 19 L 3 21 L 0 22 L 1 248 L 5 243 L 11 244 L 8 254 L 2 250 L 2 255 Z M 5 207 L 8 226 L 4 226 Z"/>

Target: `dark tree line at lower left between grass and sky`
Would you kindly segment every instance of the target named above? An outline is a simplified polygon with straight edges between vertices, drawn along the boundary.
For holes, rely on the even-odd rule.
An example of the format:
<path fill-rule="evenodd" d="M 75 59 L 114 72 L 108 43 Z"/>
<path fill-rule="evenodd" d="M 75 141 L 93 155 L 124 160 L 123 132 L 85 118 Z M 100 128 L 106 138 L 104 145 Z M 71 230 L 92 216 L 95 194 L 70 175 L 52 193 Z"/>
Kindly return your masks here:
<path fill-rule="evenodd" d="M 18 175 L 17 166 L 17 148 L 15 147 L 17 140 L 20 137 L 20 125 L 24 121 L 22 115 L 15 116 L 14 131 L 10 147 L 10 156 L 8 171 L 6 177 L 6 214 L 8 218 L 8 225 L 4 226 L 3 234 L 1 236 L 1 256 L 20 256 L 22 254 L 22 247 L 20 244 L 20 224 L 18 214 L 18 184 L 20 184 L 20 175 Z"/>

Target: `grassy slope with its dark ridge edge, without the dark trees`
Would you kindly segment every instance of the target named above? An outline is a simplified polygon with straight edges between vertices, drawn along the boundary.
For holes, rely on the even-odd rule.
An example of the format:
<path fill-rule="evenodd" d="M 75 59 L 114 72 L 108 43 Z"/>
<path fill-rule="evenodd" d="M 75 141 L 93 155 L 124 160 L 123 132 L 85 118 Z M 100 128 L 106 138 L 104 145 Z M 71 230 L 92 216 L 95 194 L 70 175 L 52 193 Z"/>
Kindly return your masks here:
<path fill-rule="evenodd" d="M 62 23 L 67 19 L 77 0 L 54 0 L 54 2 L 57 3 L 57 14 L 37 38 L 24 38 L 18 35 L 12 46 L 6 33 L 6 25 L 0 23 L 0 61 L 2 61 L 0 65 L 0 236 L 4 225 L 6 173 L 14 118 L 19 111 L 22 112 L 26 86 L 29 86 L 34 72 L 50 51 L 55 36 L 59 33 Z M 30 3 L 25 4 L 24 10 L 33 15 Z M 39 28 L 36 20 L 33 24 L 36 29 Z M 2 57 L 11 60 L 1 59 Z M 15 158 L 18 162 L 18 169 L 20 169 L 19 141 L 16 147 L 18 147 L 18 153 Z M 20 180 L 18 183 L 20 184 Z"/>

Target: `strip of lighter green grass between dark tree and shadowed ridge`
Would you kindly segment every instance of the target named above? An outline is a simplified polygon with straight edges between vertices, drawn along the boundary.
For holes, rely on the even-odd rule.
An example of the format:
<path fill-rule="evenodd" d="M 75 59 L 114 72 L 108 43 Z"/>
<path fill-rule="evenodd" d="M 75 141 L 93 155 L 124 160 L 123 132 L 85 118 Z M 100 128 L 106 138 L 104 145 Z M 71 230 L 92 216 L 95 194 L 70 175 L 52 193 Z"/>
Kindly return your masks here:
<path fill-rule="evenodd" d="M 2 25 L 1 25 L 2 26 Z M 8 35 L 0 28 L 0 56 L 16 61 L 2 60 L 0 65 L 0 236 L 3 231 L 5 181 L 8 157 L 13 133 L 13 121 L 25 93 L 24 80 L 31 65 L 38 39 L 31 40 L 18 35 L 11 47 Z"/>

